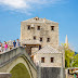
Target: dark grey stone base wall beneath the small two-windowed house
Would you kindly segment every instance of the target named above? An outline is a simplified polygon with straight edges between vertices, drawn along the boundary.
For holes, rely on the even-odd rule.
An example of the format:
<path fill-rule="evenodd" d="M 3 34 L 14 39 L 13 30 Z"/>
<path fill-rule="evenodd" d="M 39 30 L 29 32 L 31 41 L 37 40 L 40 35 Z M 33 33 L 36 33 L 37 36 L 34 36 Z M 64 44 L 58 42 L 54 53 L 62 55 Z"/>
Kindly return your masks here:
<path fill-rule="evenodd" d="M 41 67 L 41 78 L 65 78 L 65 69 L 61 70 L 61 67 Z"/>

